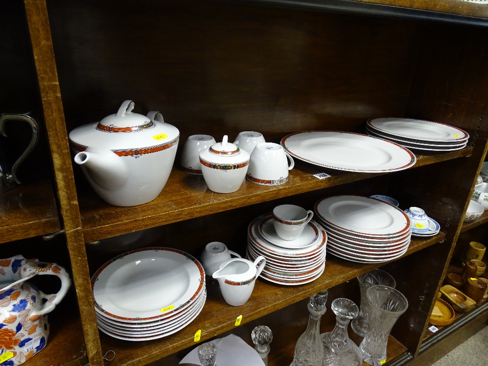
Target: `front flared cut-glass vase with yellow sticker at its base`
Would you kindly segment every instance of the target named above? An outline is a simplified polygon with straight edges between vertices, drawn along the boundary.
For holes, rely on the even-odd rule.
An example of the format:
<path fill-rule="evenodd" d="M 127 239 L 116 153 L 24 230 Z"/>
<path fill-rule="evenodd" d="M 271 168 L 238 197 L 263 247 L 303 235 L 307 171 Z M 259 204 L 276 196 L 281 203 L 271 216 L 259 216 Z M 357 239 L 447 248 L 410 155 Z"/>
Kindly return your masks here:
<path fill-rule="evenodd" d="M 405 296 L 392 287 L 374 285 L 366 291 L 369 322 L 366 336 L 359 345 L 363 360 L 374 366 L 386 362 L 386 344 L 391 328 L 408 307 Z"/>

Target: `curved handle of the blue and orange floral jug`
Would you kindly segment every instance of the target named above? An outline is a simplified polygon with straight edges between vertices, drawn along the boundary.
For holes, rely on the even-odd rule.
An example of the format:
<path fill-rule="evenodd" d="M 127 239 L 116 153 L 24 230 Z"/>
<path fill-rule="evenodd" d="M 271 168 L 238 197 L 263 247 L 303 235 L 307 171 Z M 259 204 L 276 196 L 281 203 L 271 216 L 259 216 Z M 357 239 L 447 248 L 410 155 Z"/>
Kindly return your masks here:
<path fill-rule="evenodd" d="M 60 278 L 61 288 L 56 294 L 46 295 L 42 291 L 39 291 L 40 297 L 45 299 L 46 302 L 40 306 L 39 310 L 32 310 L 29 314 L 30 317 L 36 315 L 44 315 L 54 310 L 68 292 L 71 280 L 66 270 L 56 263 L 46 262 L 29 262 L 20 268 L 20 277 L 31 278 L 35 275 L 54 275 Z"/>

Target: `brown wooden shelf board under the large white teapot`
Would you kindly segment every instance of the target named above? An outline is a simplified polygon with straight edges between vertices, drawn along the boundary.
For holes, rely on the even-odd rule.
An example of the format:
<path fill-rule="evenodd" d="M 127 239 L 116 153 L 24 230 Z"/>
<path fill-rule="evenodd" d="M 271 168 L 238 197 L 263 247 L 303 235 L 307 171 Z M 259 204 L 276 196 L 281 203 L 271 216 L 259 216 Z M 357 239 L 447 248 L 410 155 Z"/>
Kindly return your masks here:
<path fill-rule="evenodd" d="M 414 168 L 465 157 L 471 152 L 472 148 L 467 147 L 442 154 L 417 155 Z M 331 177 L 320 180 L 313 176 L 322 172 L 330 174 Z M 159 197 L 146 204 L 119 207 L 103 202 L 93 190 L 79 194 L 83 235 L 85 242 L 94 242 L 383 174 L 389 173 L 343 172 L 296 160 L 295 168 L 290 171 L 288 182 L 285 184 L 264 186 L 245 181 L 236 192 L 221 194 L 210 191 L 203 177 L 185 174 L 177 167 L 173 167 Z"/>

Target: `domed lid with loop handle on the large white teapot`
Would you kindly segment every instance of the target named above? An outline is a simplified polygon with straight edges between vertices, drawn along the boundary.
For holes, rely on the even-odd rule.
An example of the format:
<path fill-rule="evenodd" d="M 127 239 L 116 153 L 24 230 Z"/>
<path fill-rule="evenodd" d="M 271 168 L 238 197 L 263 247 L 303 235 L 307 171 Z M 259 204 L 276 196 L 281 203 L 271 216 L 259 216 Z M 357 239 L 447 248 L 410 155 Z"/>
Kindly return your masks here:
<path fill-rule="evenodd" d="M 116 114 L 105 117 L 97 125 L 97 129 L 105 132 L 135 132 L 154 127 L 149 117 L 132 113 L 133 101 L 125 101 Z"/>

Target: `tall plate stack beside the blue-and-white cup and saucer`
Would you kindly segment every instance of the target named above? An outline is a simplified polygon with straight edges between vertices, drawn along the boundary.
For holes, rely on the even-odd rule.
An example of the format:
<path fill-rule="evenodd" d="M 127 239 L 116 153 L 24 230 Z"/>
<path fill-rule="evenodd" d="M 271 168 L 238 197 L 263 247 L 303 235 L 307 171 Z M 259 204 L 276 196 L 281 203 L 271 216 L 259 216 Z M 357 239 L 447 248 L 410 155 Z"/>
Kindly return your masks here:
<path fill-rule="evenodd" d="M 401 257 L 412 230 L 405 212 L 381 200 L 355 195 L 326 197 L 315 203 L 314 218 L 324 225 L 327 252 L 359 263 Z"/>

